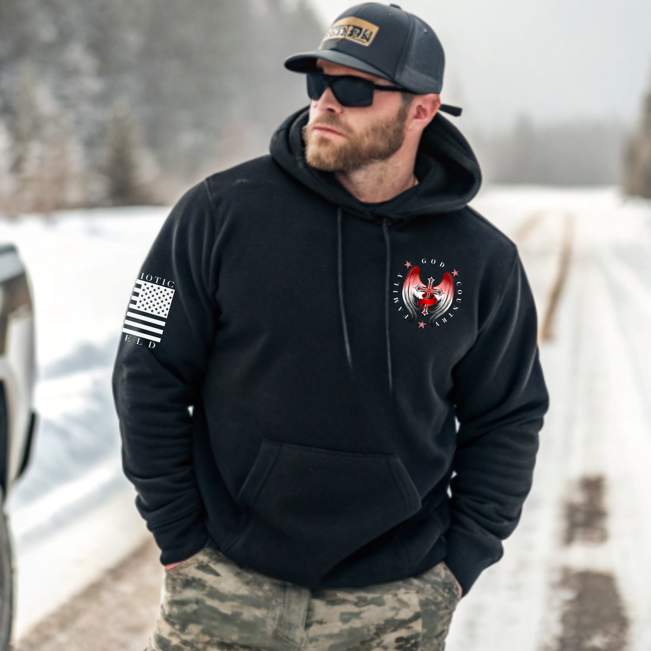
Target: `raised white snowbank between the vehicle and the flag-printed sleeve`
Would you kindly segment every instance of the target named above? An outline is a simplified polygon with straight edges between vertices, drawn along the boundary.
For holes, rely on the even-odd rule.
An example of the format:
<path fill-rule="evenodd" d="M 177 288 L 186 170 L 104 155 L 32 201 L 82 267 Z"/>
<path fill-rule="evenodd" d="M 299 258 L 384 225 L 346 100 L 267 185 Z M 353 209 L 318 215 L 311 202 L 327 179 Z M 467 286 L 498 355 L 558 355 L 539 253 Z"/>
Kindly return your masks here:
<path fill-rule="evenodd" d="M 62 481 L 118 458 L 110 374 L 132 283 L 169 208 L 70 211 L 0 221 L 27 267 L 36 318 L 36 454 L 14 514 Z"/>

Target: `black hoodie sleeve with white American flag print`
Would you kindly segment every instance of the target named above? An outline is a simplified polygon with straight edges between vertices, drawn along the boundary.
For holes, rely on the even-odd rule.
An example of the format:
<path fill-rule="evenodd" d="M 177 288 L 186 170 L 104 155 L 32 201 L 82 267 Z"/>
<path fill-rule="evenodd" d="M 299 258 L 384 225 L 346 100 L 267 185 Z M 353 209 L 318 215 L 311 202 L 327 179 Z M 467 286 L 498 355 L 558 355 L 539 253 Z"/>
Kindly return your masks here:
<path fill-rule="evenodd" d="M 133 296 L 113 369 L 122 465 L 163 565 L 184 561 L 209 538 L 189 408 L 200 395 L 219 316 L 214 249 L 214 214 L 202 182 L 163 223 L 134 291 L 125 288 Z"/>

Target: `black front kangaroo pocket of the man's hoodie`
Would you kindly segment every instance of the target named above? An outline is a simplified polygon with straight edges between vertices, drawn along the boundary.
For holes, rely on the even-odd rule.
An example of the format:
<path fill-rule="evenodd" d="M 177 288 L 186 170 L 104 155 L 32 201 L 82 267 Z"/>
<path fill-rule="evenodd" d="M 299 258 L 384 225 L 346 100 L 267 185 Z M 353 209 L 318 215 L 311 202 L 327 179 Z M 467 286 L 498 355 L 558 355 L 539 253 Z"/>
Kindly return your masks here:
<path fill-rule="evenodd" d="M 421 508 L 395 454 L 338 452 L 263 439 L 238 495 L 246 520 L 223 551 L 310 585 Z"/>

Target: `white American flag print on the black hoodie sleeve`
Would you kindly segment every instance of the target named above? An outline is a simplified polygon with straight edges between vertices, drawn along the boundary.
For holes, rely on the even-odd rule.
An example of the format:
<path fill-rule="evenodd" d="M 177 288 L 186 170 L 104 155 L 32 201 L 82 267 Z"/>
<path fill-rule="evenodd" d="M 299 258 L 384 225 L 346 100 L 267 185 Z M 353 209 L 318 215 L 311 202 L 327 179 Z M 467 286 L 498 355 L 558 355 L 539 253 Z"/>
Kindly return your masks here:
<path fill-rule="evenodd" d="M 122 332 L 160 341 L 173 298 L 172 288 L 141 280 L 135 281 Z"/>

